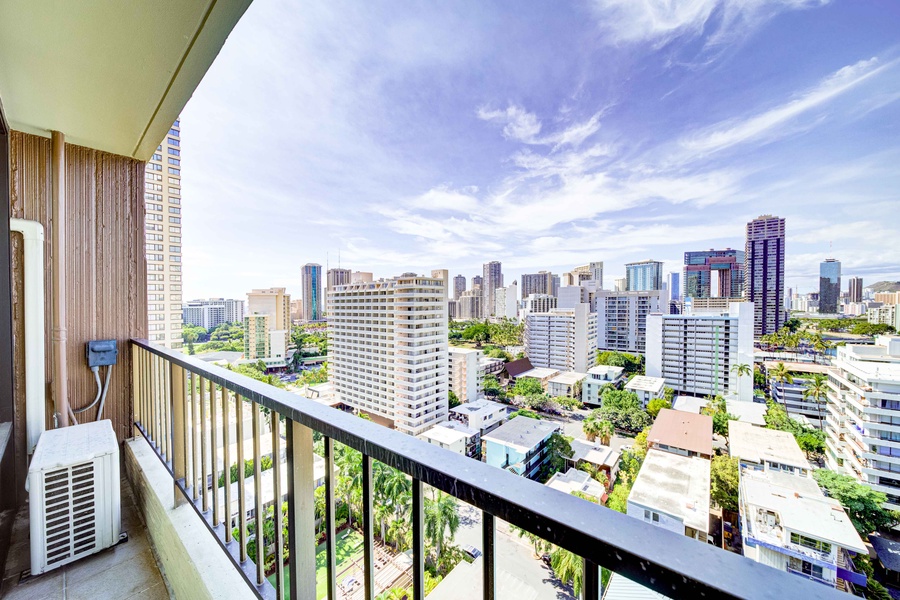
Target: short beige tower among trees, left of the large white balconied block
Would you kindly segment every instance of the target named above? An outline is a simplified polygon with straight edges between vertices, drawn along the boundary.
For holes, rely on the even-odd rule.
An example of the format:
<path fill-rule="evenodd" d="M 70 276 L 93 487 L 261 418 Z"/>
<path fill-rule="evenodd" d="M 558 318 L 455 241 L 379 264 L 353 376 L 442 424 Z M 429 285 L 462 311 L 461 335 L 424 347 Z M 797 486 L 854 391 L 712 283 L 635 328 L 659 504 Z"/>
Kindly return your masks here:
<path fill-rule="evenodd" d="M 253 290 L 247 294 L 245 359 L 262 360 L 269 367 L 285 366 L 290 335 L 291 296 L 284 288 Z"/>

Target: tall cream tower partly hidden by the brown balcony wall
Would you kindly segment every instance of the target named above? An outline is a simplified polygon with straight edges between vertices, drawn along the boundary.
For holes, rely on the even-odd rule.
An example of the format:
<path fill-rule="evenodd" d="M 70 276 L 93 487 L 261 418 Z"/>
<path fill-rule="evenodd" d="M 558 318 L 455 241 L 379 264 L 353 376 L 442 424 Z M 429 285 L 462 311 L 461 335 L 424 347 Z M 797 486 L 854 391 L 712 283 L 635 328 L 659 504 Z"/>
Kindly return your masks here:
<path fill-rule="evenodd" d="M 172 124 L 144 171 L 148 339 L 182 347 L 181 119 Z"/>

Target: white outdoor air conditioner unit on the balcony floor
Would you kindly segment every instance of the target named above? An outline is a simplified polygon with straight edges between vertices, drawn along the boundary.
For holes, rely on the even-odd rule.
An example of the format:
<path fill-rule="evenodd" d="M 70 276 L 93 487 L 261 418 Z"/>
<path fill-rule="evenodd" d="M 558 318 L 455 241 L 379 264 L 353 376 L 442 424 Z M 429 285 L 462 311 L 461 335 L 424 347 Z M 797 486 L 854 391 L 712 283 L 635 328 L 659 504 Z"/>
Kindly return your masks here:
<path fill-rule="evenodd" d="M 28 468 L 31 574 L 119 541 L 119 444 L 109 420 L 46 431 Z"/>

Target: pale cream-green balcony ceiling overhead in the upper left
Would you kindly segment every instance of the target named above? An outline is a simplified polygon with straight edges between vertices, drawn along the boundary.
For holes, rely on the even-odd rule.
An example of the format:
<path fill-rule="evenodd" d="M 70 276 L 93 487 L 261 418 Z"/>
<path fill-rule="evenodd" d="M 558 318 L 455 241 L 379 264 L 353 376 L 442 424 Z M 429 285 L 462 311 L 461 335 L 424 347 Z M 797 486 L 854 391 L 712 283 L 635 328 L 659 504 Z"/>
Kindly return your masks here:
<path fill-rule="evenodd" d="M 251 0 L 4 0 L 12 129 L 147 160 Z"/>

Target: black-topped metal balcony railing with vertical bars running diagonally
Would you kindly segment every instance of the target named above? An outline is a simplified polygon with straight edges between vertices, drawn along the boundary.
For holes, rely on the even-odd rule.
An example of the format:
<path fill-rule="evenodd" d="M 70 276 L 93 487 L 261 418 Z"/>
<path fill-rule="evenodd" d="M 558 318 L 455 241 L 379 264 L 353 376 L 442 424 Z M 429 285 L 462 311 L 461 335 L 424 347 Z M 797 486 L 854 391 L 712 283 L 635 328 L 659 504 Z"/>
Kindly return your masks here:
<path fill-rule="evenodd" d="M 302 398 L 285 390 L 204 363 L 145 340 L 132 340 L 134 362 L 134 419 L 172 474 L 176 500 L 187 502 L 203 519 L 222 551 L 259 598 L 316 597 L 316 557 L 313 503 L 313 431 L 324 436 L 326 587 L 336 599 L 334 443 L 362 454 L 363 589 L 374 598 L 375 550 L 373 461 L 398 469 L 412 479 L 413 598 L 425 596 L 424 486 L 429 485 L 482 511 L 483 598 L 496 597 L 495 519 L 502 519 L 581 556 L 583 597 L 596 600 L 600 593 L 598 566 L 620 573 L 671 598 L 839 598 L 821 586 L 749 559 L 701 544 L 605 507 L 563 494 L 537 482 L 441 449 L 412 436 L 392 431 L 353 415 Z M 245 455 L 244 419 L 234 429 L 225 426 L 231 415 L 251 418 L 252 450 Z M 269 434 L 262 413 L 276 424 Z M 221 418 L 220 418 L 221 415 Z M 280 423 L 286 448 L 282 453 Z M 287 465 L 287 489 L 274 477 L 274 498 L 286 497 L 287 540 L 282 538 L 282 511 L 271 516 L 263 510 L 260 440 L 272 436 L 272 468 Z M 231 446 L 235 445 L 235 456 Z M 219 456 L 219 453 L 222 456 Z M 282 455 L 285 457 L 282 459 Z M 230 465 L 254 461 L 254 506 L 247 506 L 244 470 L 237 469 L 235 491 L 219 490 L 220 474 Z M 222 464 L 223 469 L 218 465 Z M 228 465 L 228 466 L 226 466 Z M 227 477 L 226 477 L 227 479 Z M 237 498 L 232 498 L 236 493 Z M 223 496 L 220 498 L 220 494 Z M 232 531 L 232 505 L 237 503 Z M 222 507 L 225 515 L 222 514 Z M 248 509 L 254 518 L 271 520 L 275 532 L 275 585 L 266 578 L 265 544 L 256 544 L 248 556 Z M 258 527 L 264 531 L 266 527 Z M 285 550 L 286 548 L 286 550 Z M 290 557 L 284 566 L 286 557 Z M 289 577 L 285 576 L 285 569 Z M 289 589 L 285 589 L 289 581 Z"/>

